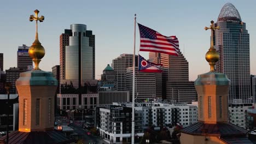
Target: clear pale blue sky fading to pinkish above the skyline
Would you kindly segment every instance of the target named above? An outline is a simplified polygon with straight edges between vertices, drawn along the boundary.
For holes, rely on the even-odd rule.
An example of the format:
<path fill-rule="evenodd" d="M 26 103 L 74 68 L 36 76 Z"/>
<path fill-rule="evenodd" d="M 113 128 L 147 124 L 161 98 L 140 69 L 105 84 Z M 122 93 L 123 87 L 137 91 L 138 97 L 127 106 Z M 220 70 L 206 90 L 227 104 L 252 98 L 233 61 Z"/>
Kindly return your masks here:
<path fill-rule="evenodd" d="M 250 34 L 251 74 L 256 75 L 256 1 L 1 1 L 0 2 L 0 53 L 4 53 L 4 70 L 17 66 L 18 46 L 32 45 L 35 22 L 28 17 L 38 9 L 45 21 L 39 23 L 39 40 L 45 48 L 40 68 L 51 71 L 60 63 L 60 34 L 73 23 L 87 25 L 96 35 L 96 78 L 107 64 L 122 53 L 133 52 L 133 19 L 163 35 L 176 35 L 181 51 L 189 62 L 189 79 L 210 70 L 205 53 L 210 48 L 210 21 L 217 21 L 225 3 L 232 3 L 239 11 Z M 137 29 L 138 30 L 138 29 Z M 136 35 L 136 51 L 139 34 Z M 184 52 L 185 51 L 185 52 Z M 148 52 L 141 53 L 148 57 Z"/>

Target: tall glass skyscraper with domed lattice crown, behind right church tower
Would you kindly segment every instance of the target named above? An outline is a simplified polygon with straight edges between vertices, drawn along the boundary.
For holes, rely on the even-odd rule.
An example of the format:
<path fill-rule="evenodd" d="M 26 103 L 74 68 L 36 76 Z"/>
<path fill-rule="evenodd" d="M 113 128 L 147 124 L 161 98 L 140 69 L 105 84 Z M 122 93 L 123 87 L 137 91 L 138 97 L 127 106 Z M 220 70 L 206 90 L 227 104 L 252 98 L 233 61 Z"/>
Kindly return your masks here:
<path fill-rule="evenodd" d="M 226 3 L 215 26 L 214 46 L 220 54 L 216 70 L 231 80 L 229 103 L 252 103 L 250 90 L 250 47 L 246 23 L 238 10 Z"/>

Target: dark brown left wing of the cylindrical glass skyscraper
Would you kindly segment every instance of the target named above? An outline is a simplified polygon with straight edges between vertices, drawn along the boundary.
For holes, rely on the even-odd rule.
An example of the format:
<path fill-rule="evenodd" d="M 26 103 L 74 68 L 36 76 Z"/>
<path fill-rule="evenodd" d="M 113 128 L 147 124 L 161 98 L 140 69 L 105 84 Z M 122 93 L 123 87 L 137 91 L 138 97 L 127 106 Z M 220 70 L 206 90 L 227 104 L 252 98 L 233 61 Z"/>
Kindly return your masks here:
<path fill-rule="evenodd" d="M 72 36 L 71 29 L 65 29 L 65 32 L 60 35 L 60 79 L 61 80 L 65 80 L 66 46 L 69 45 L 70 36 Z"/>

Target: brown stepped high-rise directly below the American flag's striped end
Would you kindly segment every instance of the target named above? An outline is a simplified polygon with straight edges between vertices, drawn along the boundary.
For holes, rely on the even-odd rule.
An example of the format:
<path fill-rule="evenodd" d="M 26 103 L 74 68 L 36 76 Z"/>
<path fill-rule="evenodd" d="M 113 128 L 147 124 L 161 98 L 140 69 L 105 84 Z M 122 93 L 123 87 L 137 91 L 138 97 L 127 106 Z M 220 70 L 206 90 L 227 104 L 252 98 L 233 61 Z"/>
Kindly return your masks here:
<path fill-rule="evenodd" d="M 189 64 L 179 52 L 178 56 L 149 52 L 149 60 L 162 64 L 162 98 L 173 102 L 197 99 L 194 82 L 189 81 Z"/>

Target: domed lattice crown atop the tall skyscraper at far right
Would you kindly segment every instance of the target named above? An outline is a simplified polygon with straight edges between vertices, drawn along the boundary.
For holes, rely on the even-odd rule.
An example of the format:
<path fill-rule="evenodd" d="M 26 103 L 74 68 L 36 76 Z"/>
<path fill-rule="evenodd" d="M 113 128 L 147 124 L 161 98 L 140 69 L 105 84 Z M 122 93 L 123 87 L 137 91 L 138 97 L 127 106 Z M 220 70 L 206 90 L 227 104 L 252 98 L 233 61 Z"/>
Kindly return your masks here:
<path fill-rule="evenodd" d="M 222 10 L 220 10 L 218 21 L 227 21 L 227 20 L 241 20 L 241 16 L 235 6 L 231 3 L 226 3 Z"/>

